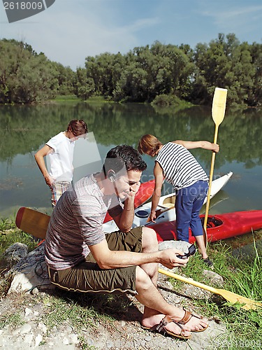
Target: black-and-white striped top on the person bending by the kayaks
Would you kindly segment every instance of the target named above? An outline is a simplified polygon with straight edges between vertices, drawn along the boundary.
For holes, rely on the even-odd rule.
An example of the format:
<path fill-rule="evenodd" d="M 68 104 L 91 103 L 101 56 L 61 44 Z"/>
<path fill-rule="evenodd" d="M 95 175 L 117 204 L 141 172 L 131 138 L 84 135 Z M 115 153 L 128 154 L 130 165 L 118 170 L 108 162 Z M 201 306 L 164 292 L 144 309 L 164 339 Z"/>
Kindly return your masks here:
<path fill-rule="evenodd" d="M 196 181 L 208 181 L 203 167 L 196 158 L 180 144 L 168 142 L 163 145 L 155 162 L 163 169 L 163 176 L 171 183 L 175 190 L 188 187 Z"/>

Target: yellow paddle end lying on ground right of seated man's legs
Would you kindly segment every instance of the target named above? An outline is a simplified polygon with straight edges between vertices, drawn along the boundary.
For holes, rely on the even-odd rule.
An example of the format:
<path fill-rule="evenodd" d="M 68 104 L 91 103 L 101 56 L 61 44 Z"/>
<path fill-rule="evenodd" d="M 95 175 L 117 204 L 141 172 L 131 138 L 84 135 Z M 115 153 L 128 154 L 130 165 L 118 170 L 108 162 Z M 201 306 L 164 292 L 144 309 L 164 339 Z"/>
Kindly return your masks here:
<path fill-rule="evenodd" d="M 256 310 L 258 307 L 262 308 L 261 302 L 256 302 L 254 300 L 248 299 L 247 297 L 242 297 L 241 295 L 230 292 L 229 290 L 217 289 L 211 286 L 207 286 L 206 284 L 194 281 L 194 279 L 187 279 L 186 277 L 180 276 L 179 274 L 174 274 L 173 272 L 166 271 L 165 269 L 159 269 L 159 273 L 166 274 L 166 276 L 172 277 L 173 279 L 179 279 L 180 281 L 183 281 L 185 283 L 189 283 L 193 286 L 208 290 L 211 293 L 221 295 L 221 297 L 224 297 L 224 299 L 226 299 L 228 302 L 232 302 L 234 304 L 235 302 L 239 302 L 240 304 L 243 304 L 241 306 L 242 309 Z"/>

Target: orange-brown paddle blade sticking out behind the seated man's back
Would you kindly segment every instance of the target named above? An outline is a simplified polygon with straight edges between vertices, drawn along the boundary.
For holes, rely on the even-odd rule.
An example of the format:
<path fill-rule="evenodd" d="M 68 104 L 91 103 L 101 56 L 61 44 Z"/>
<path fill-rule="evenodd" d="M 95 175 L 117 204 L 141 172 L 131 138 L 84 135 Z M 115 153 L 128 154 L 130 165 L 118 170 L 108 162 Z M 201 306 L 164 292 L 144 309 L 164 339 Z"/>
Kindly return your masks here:
<path fill-rule="evenodd" d="M 37 238 L 45 239 L 50 216 L 39 211 L 22 207 L 17 211 L 15 224 L 20 230 Z"/>

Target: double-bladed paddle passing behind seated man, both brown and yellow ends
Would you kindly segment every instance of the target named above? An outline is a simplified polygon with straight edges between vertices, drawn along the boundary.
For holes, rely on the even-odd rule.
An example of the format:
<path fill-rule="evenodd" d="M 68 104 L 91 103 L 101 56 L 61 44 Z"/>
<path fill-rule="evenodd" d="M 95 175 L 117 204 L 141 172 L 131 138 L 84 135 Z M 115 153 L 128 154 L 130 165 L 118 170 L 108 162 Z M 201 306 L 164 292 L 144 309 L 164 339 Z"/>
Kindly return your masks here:
<path fill-rule="evenodd" d="M 15 224 L 17 228 L 29 233 L 30 235 L 45 239 L 46 230 L 48 229 L 48 223 L 50 221 L 50 216 L 47 214 L 40 213 L 34 209 L 29 209 L 22 207 L 17 211 L 17 216 L 15 218 Z M 203 283 L 196 282 L 193 279 L 187 279 L 186 277 L 180 276 L 179 274 L 173 274 L 164 269 L 159 269 L 159 273 L 166 274 L 166 276 L 173 277 L 174 279 L 179 279 L 180 281 L 193 284 L 193 286 L 209 290 L 212 293 L 216 293 L 224 297 L 229 302 L 240 302 L 245 304 L 242 306 L 243 309 L 256 309 L 257 306 L 262 307 L 260 302 L 254 302 L 253 300 L 247 299 L 247 297 L 242 297 L 241 295 L 229 292 L 224 289 L 216 289 L 211 286 L 206 286 Z"/>

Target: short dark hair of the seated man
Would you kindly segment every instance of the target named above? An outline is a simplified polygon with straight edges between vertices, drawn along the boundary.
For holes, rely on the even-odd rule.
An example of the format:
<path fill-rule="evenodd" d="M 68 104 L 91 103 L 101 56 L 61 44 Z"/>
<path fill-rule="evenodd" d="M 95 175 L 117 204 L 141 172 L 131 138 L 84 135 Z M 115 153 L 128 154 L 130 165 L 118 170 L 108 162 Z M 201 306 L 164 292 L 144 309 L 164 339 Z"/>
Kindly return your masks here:
<path fill-rule="evenodd" d="M 143 172 L 147 169 L 145 161 L 132 146 L 115 146 L 108 151 L 108 154 L 105 157 L 105 162 L 103 164 L 105 177 L 109 170 L 113 170 L 117 174 L 123 169 L 126 172 L 129 172 L 130 170 Z"/>

